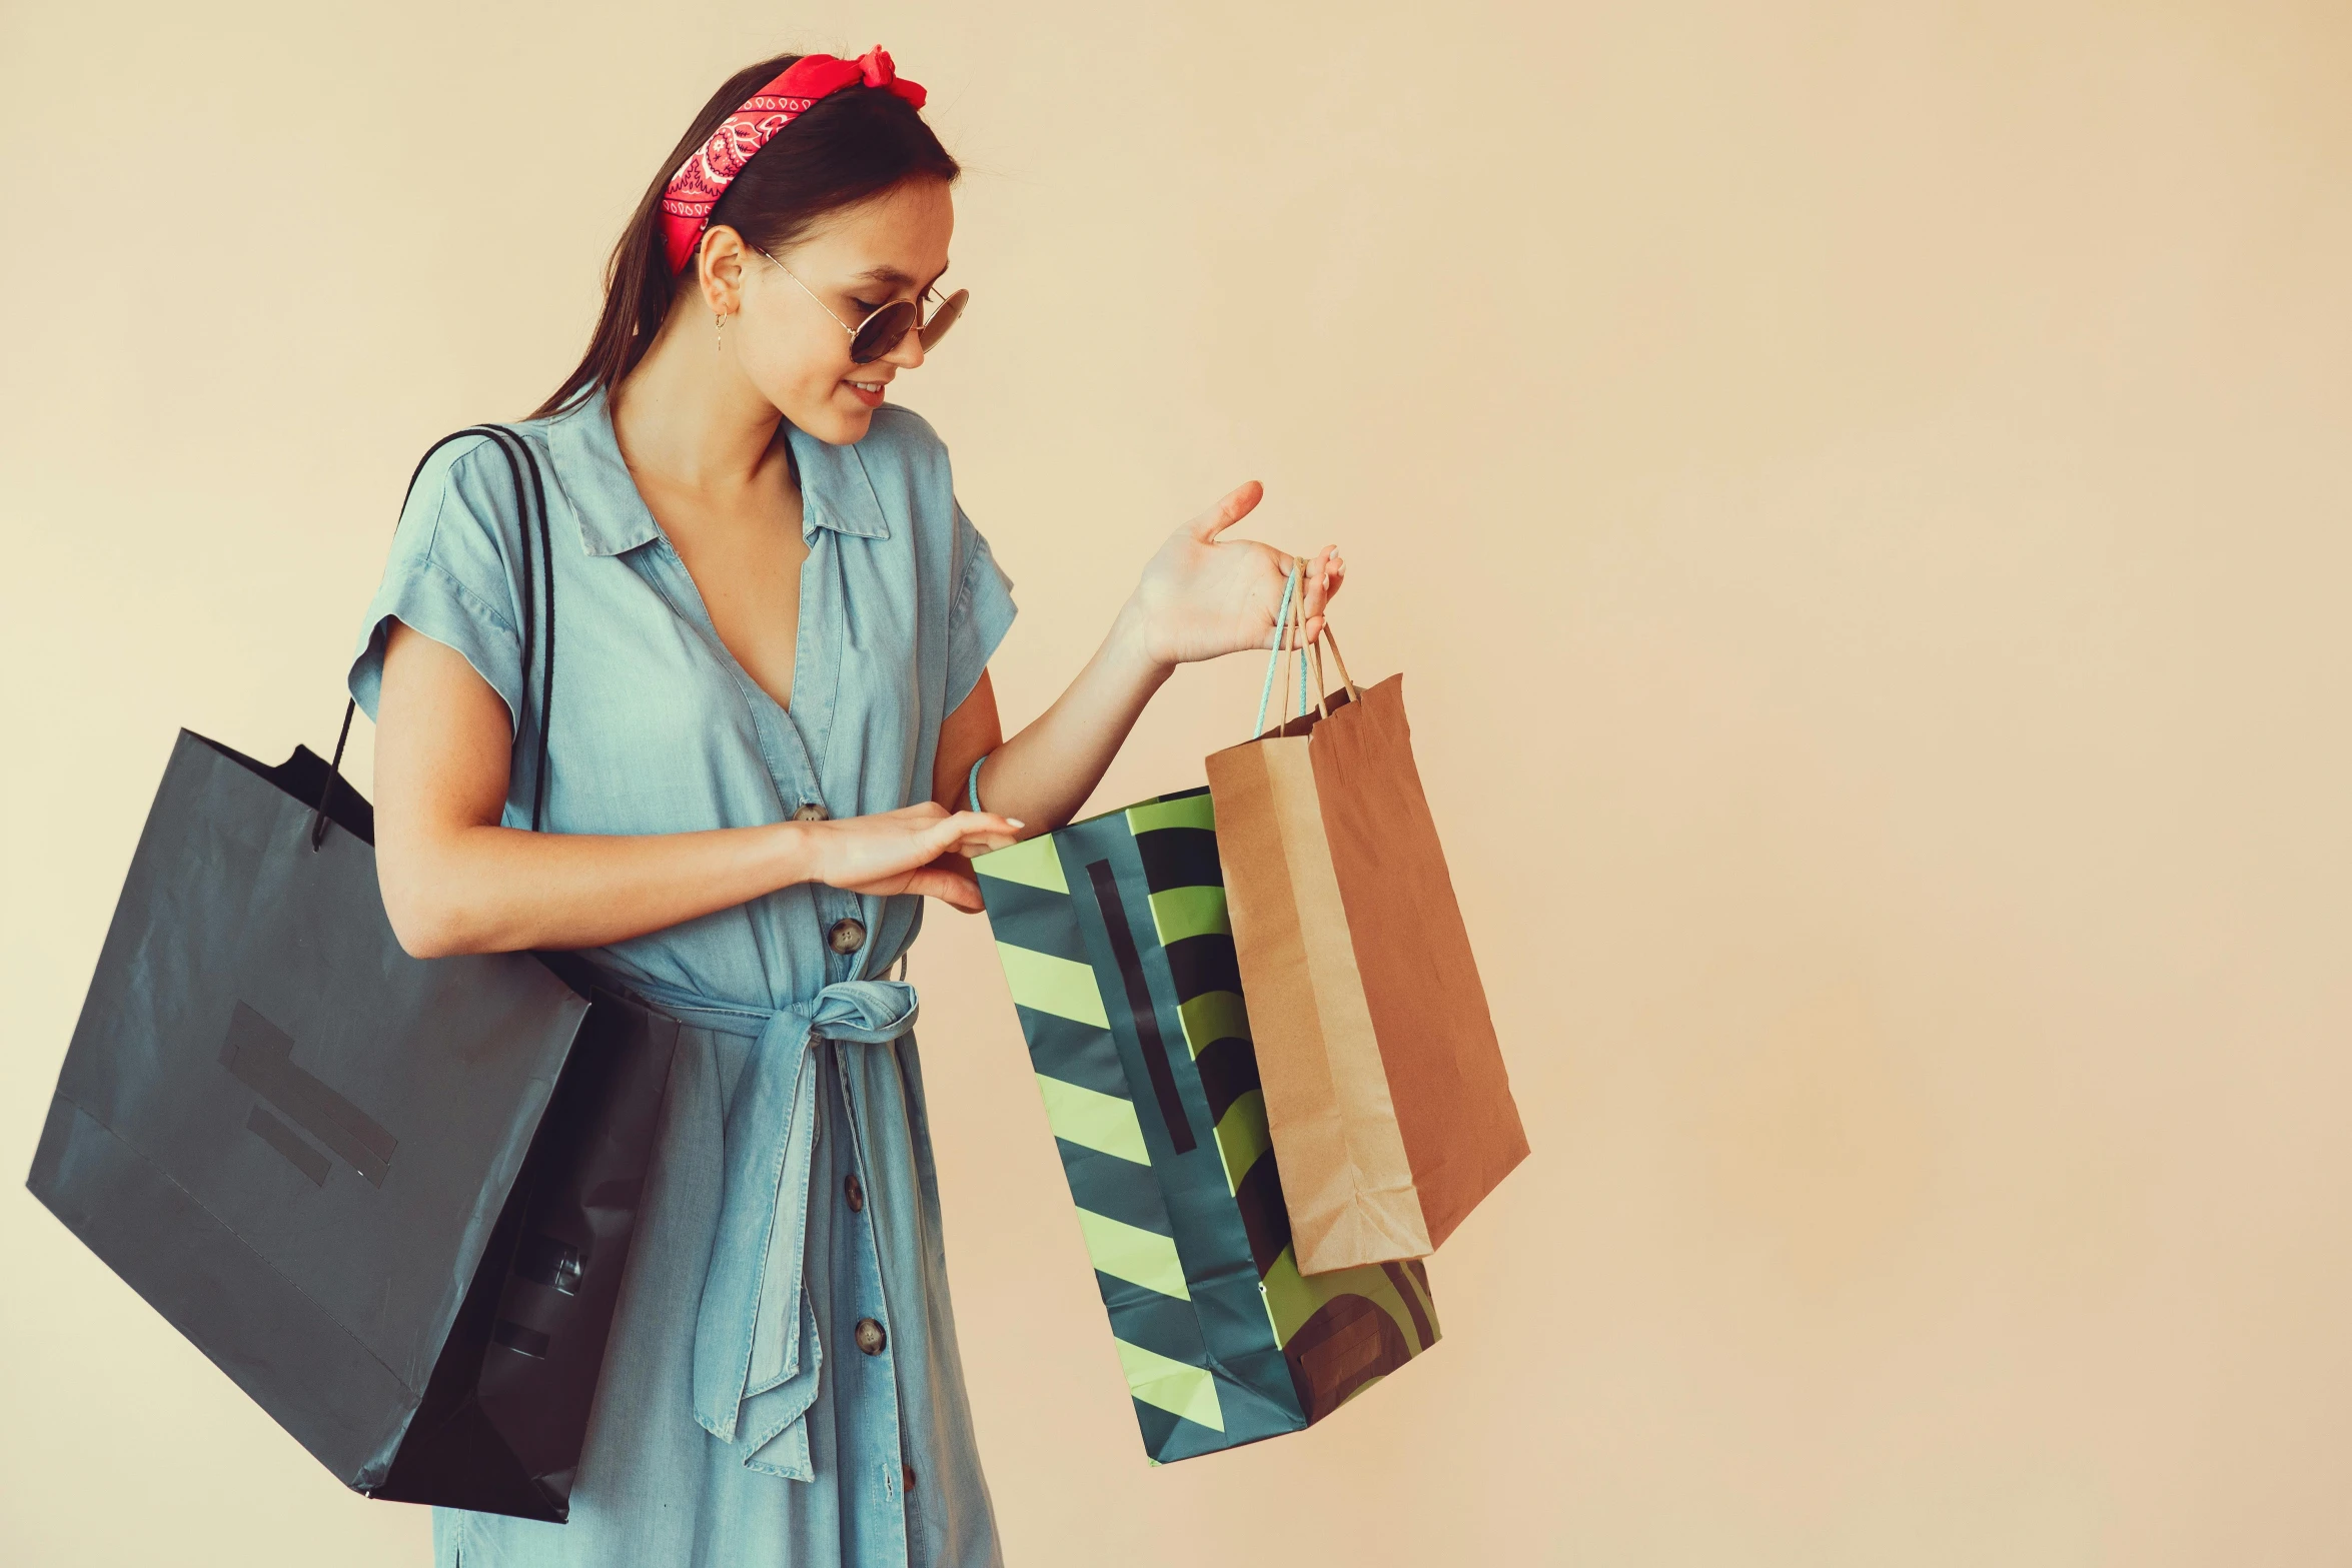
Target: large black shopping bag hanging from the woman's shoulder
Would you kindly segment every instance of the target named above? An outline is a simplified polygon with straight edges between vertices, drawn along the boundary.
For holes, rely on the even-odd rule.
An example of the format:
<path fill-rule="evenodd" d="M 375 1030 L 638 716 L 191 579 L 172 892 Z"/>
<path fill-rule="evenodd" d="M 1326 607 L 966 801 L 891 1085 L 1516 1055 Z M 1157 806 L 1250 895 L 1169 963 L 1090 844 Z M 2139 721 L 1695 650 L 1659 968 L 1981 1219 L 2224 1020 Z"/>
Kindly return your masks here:
<path fill-rule="evenodd" d="M 553 635 L 541 677 L 543 780 Z M 562 957 L 412 959 L 372 816 L 181 731 L 28 1185 L 346 1486 L 560 1521 L 677 1023 Z"/>

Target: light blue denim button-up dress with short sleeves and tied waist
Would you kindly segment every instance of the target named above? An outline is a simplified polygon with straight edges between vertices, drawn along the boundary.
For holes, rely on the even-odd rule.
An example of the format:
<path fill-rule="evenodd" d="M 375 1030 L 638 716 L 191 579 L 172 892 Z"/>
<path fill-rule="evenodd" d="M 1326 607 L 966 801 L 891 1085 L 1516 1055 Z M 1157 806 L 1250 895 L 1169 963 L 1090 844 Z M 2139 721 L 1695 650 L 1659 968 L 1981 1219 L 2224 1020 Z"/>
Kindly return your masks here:
<path fill-rule="evenodd" d="M 941 719 L 1014 602 L 920 416 L 884 407 L 854 447 L 786 428 L 809 543 L 790 712 L 713 630 L 604 400 L 517 430 L 548 475 L 555 555 L 550 832 L 929 799 Z M 539 733 L 522 548 L 489 440 L 442 447 L 367 607 L 350 691 L 369 717 L 397 618 L 463 654 Z M 513 827 L 529 825 L 527 773 Z M 588 954 L 687 1027 L 572 1519 L 435 1509 L 435 1563 L 1002 1561 L 948 1307 L 915 992 L 887 978 L 920 924 L 920 898 L 804 884 Z"/>

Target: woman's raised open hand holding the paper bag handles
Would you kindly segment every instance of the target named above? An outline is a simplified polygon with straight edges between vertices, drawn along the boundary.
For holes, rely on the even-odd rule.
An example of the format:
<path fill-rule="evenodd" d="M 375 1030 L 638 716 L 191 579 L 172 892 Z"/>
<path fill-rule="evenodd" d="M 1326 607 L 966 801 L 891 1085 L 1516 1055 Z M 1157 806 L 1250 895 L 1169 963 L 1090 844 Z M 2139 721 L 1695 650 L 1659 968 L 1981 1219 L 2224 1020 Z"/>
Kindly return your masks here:
<path fill-rule="evenodd" d="M 1176 529 L 1143 569 L 1127 614 L 1136 618 L 1143 654 L 1157 665 L 1181 665 L 1242 649 L 1275 646 L 1275 616 L 1294 557 L 1254 538 L 1218 538 L 1247 517 L 1265 487 L 1251 480 Z M 1322 635 L 1324 607 L 1348 576 L 1336 545 L 1303 562 L 1308 639 Z"/>

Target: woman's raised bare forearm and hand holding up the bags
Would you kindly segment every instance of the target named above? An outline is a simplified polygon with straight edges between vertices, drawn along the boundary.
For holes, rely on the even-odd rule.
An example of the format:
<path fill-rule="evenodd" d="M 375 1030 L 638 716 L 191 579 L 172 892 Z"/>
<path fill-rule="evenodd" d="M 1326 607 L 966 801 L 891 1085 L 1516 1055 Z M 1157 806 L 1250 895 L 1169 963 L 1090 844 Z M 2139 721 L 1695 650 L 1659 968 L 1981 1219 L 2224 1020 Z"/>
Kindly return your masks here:
<path fill-rule="evenodd" d="M 1077 679 L 1011 741 L 1002 733 L 995 691 L 983 677 L 938 733 L 931 799 L 964 806 L 964 780 L 978 757 L 981 799 L 1025 823 L 1028 835 L 1061 827 L 1127 741 L 1143 705 L 1181 663 L 1242 649 L 1270 649 L 1282 585 L 1294 559 L 1272 545 L 1218 538 L 1247 517 L 1265 489 L 1251 480 L 1176 529 L 1143 569 L 1136 592 L 1110 623 Z M 1345 564 L 1322 550 L 1305 567 L 1305 630 L 1322 635 L 1324 604 Z"/>

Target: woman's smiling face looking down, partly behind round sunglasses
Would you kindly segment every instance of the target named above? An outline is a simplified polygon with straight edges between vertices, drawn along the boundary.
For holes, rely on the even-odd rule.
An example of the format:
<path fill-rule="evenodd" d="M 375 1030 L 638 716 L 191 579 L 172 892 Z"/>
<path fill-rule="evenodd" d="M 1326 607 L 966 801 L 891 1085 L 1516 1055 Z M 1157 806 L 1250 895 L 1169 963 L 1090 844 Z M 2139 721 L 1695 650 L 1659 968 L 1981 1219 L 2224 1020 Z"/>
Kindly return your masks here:
<path fill-rule="evenodd" d="M 856 364 L 851 329 L 896 299 L 922 299 L 948 270 L 953 235 L 948 186 L 917 179 L 830 214 L 774 261 L 750 244 L 715 247 L 717 270 L 736 270 L 739 289 L 724 353 L 816 440 L 863 440 L 891 378 L 922 364 L 922 339 L 908 331 L 880 360 Z M 729 252 L 741 259 L 736 268 L 727 266 Z"/>

